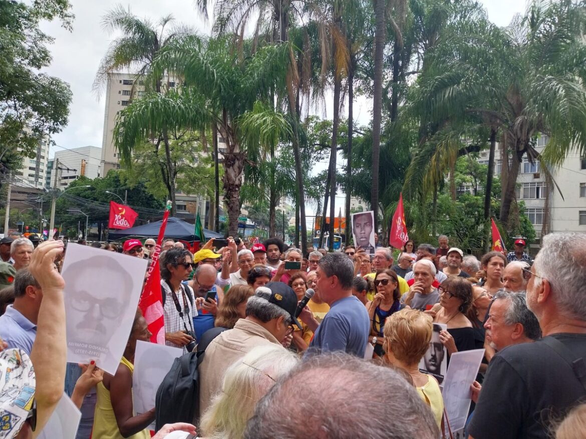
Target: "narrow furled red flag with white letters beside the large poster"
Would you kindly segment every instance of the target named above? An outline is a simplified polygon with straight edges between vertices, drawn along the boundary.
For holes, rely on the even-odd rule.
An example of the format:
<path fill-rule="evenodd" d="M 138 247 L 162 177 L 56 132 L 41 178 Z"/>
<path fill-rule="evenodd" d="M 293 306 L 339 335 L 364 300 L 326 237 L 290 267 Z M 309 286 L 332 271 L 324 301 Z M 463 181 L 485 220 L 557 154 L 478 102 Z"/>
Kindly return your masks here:
<path fill-rule="evenodd" d="M 156 239 L 155 249 L 151 256 L 151 265 L 147 271 L 147 283 L 142 290 L 141 300 L 138 307 L 147 320 L 148 330 L 151 331 L 151 342 L 165 344 L 165 320 L 163 318 L 163 298 L 161 295 L 161 272 L 159 271 L 159 255 L 161 244 L 169 218 L 169 206 L 163 215 L 163 222 L 159 229 L 159 236 Z"/>

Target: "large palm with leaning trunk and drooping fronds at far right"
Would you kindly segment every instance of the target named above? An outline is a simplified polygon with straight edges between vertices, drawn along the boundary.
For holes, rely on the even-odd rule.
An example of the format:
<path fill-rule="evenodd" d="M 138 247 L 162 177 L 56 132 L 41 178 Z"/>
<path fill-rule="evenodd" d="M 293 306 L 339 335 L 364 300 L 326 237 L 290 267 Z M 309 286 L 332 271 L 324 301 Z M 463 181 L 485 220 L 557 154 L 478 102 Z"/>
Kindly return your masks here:
<path fill-rule="evenodd" d="M 570 0 L 536 2 L 506 29 L 468 23 L 435 48 L 422 74 L 427 126 L 461 125 L 472 116 L 500 133 L 499 218 L 508 230 L 523 156 L 556 166 L 568 150 L 586 151 L 581 13 Z M 550 136 L 541 156 L 534 149 L 539 133 Z"/>

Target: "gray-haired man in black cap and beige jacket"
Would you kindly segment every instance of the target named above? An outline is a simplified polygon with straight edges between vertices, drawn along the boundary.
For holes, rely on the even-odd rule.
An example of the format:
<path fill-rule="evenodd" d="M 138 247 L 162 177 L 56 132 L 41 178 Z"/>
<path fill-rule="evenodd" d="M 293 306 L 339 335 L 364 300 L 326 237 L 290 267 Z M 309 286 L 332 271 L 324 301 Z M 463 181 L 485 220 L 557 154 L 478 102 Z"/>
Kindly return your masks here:
<path fill-rule="evenodd" d="M 280 345 L 293 331 L 292 324 L 301 327 L 295 318 L 296 308 L 297 296 L 287 284 L 269 282 L 257 288 L 246 303 L 246 318 L 214 338 L 206 348 L 198 368 L 200 414 L 205 413 L 214 395 L 222 390 L 224 373 L 231 364 L 254 347 L 268 343 Z"/>

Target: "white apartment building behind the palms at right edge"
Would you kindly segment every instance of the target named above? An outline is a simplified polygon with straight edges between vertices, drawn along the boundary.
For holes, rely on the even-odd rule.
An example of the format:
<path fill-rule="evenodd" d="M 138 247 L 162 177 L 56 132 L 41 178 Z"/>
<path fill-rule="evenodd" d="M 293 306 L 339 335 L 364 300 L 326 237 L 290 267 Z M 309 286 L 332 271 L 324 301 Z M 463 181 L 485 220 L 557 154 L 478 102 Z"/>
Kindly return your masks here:
<path fill-rule="evenodd" d="M 547 136 L 537 139 L 537 152 L 543 151 L 547 141 Z M 497 148 L 496 157 L 499 155 Z M 481 152 L 478 162 L 488 164 L 488 151 Z M 501 166 L 502 160 L 496 159 L 496 176 L 500 176 Z M 586 232 L 586 158 L 570 152 L 551 174 L 559 190 L 555 185 L 548 186 L 539 162 L 530 163 L 523 157 L 517 177 L 517 200 L 524 202 L 537 239 L 543 232 Z"/>

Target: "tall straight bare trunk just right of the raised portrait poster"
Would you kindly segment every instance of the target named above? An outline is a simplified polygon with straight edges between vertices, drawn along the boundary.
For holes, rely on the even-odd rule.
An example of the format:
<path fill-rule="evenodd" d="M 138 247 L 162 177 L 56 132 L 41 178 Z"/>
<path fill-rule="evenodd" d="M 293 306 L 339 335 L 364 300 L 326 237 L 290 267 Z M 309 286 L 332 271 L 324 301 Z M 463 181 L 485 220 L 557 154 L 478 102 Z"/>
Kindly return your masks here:
<path fill-rule="evenodd" d="M 383 102 L 383 49 L 385 40 L 385 6 L 383 0 L 374 3 L 374 87 L 372 110 L 372 191 L 370 206 L 374 211 L 374 231 L 378 231 L 379 219 L 379 156 L 380 156 L 380 123 Z"/>

